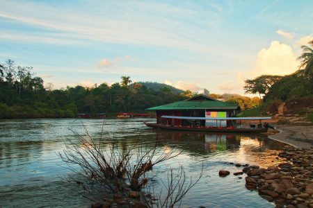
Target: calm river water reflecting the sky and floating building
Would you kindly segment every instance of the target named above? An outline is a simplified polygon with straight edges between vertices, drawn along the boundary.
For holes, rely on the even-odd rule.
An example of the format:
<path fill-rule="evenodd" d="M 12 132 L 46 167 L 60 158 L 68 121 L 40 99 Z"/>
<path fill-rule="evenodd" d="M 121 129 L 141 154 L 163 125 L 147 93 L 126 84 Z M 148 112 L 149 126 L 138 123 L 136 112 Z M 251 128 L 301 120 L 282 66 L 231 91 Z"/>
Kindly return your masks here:
<path fill-rule="evenodd" d="M 183 150 L 174 159 L 157 165 L 155 186 L 167 177 L 170 167 L 184 166 L 186 175 L 203 176 L 188 192 L 182 207 L 273 207 L 256 191 L 245 188 L 241 171 L 230 162 L 271 166 L 284 144 L 264 135 L 218 135 L 198 132 L 153 130 L 143 121 L 154 119 L 13 119 L 0 120 L 0 207 L 88 207 L 90 201 L 66 187 L 71 171 L 63 167 L 57 153 L 64 139 L 74 138 L 70 128 L 97 137 L 104 126 L 106 137 L 130 145 L 158 144 L 164 150 Z M 138 139 L 140 138 L 140 139 Z M 108 139 L 108 142 L 109 140 Z M 218 171 L 231 172 L 219 177 Z M 160 187 L 156 187 L 158 189 Z"/>

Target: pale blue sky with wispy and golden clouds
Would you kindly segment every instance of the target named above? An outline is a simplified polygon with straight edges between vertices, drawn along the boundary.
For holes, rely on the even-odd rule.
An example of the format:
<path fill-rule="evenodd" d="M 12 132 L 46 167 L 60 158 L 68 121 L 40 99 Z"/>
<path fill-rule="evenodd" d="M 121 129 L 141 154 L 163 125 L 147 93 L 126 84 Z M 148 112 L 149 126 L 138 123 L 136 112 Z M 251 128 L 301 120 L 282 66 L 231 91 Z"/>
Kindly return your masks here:
<path fill-rule="evenodd" d="M 244 80 L 298 69 L 313 39 L 308 1 L 0 0 L 0 62 L 54 89 L 166 83 L 243 94 Z"/>

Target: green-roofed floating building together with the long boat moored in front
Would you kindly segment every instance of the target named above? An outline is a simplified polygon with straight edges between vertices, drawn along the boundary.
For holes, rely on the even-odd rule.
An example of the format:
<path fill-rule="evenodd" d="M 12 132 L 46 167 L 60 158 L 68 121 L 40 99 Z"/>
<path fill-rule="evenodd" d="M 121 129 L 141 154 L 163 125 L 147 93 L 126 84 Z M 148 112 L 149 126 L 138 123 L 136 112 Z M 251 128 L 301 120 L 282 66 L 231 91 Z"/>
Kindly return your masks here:
<path fill-rule="evenodd" d="M 271 117 L 236 117 L 240 107 L 218 101 L 203 94 L 185 101 L 147 108 L 155 110 L 157 123 L 145 123 L 152 128 L 197 130 L 211 132 L 266 132 L 268 126 L 262 120 Z M 258 120 L 259 124 L 241 125 L 242 120 Z M 239 121 L 239 122 L 238 122 Z"/>

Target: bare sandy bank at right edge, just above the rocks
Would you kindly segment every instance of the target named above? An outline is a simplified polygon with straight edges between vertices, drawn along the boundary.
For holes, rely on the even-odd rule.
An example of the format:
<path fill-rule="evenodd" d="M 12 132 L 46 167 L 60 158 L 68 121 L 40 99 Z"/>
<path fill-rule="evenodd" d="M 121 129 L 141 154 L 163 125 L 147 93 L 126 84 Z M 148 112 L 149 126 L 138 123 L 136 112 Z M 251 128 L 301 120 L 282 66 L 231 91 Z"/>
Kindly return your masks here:
<path fill-rule="evenodd" d="M 282 141 L 297 148 L 313 148 L 313 125 L 281 125 L 275 135 L 268 138 Z"/>

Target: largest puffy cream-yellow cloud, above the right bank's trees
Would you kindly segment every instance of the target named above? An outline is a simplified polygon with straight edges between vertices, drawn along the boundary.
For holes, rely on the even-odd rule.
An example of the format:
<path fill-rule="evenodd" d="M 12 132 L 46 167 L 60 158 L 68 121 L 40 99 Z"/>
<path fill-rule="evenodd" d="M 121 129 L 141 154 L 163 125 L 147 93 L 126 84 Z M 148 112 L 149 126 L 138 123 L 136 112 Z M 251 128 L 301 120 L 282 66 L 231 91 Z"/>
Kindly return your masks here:
<path fill-rule="evenodd" d="M 255 68 L 251 76 L 262 74 L 286 75 L 293 73 L 298 68 L 297 56 L 291 46 L 272 41 L 268 48 L 263 48 L 257 53 Z"/>

